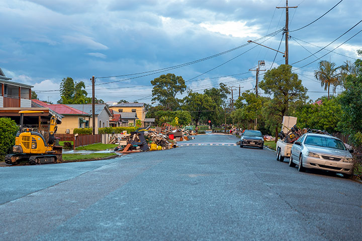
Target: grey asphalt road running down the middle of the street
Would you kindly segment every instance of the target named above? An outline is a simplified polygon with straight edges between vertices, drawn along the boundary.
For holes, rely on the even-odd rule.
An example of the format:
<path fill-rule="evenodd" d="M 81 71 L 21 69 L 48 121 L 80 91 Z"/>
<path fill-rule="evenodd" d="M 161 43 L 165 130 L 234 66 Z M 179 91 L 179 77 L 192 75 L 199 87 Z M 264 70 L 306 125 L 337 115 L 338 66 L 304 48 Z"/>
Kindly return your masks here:
<path fill-rule="evenodd" d="M 0 168 L 0 240 L 361 240 L 361 184 L 236 141 Z"/>

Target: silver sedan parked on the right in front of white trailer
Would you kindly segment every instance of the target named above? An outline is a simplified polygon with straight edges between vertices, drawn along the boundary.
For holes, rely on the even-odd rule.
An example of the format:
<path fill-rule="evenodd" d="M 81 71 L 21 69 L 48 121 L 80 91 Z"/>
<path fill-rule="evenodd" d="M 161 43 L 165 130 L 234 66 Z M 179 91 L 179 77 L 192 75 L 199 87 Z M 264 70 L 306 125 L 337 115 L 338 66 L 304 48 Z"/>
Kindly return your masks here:
<path fill-rule="evenodd" d="M 353 159 L 338 138 L 307 133 L 301 136 L 292 146 L 289 166 L 298 165 L 298 171 L 305 172 L 308 168 L 321 169 L 351 176 Z"/>

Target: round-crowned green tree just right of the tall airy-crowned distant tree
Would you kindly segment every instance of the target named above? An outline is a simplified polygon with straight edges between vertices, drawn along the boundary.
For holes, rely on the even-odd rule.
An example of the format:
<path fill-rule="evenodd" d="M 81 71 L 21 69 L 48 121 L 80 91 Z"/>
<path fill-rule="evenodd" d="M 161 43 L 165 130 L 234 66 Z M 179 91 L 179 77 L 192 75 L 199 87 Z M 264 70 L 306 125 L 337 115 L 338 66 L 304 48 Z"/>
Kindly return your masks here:
<path fill-rule="evenodd" d="M 184 98 L 184 109 L 191 112 L 195 120 L 195 128 L 198 126 L 199 120 L 205 111 L 211 111 L 215 105 L 212 98 L 207 94 L 197 92 L 189 92 Z"/>

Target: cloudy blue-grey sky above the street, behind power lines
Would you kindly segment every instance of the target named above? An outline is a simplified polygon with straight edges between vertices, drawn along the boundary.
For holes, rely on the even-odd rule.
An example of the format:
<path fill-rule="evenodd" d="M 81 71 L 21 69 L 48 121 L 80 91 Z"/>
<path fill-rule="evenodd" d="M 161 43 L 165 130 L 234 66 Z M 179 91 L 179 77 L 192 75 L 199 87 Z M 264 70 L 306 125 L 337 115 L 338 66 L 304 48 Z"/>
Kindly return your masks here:
<path fill-rule="evenodd" d="M 320 20 L 292 32 L 313 22 L 339 1 L 289 1 L 289 6 L 298 6 L 289 10 L 289 64 L 317 52 L 320 48 L 316 46 L 325 47 L 362 20 L 362 1 L 344 0 Z M 13 81 L 33 85 L 41 100 L 49 98 L 55 103 L 59 91 L 42 91 L 59 89 L 61 80 L 68 76 L 90 85 L 92 75 L 126 75 L 176 66 L 274 33 L 285 26 L 286 19 L 285 9 L 275 7 L 285 5 L 285 0 L 0 0 L 0 68 Z M 362 23 L 326 49 L 334 49 L 361 29 Z M 282 32 L 258 42 L 278 49 L 281 39 Z M 322 50 L 293 64 L 293 69 L 325 54 L 321 60 L 336 65 L 345 60 L 354 62 L 357 49 L 362 49 L 362 33 L 335 53 Z M 285 51 L 284 39 L 280 51 Z M 126 99 L 150 103 L 150 81 L 166 73 L 183 76 L 188 88 L 198 92 L 217 87 L 220 82 L 240 85 L 245 91 L 255 85 L 255 71 L 248 70 L 255 69 L 258 60 L 264 60 L 269 69 L 276 53 L 251 43 L 202 62 L 139 78 L 98 78 L 96 97 L 106 102 Z M 324 89 L 313 77 L 318 62 L 295 70 L 313 100 L 326 95 L 318 92 Z M 283 54 L 278 53 L 273 67 L 284 63 Z M 226 75 L 234 76 L 221 77 Z M 107 82 L 113 83 L 103 84 Z M 91 87 L 86 89 L 92 96 Z"/>

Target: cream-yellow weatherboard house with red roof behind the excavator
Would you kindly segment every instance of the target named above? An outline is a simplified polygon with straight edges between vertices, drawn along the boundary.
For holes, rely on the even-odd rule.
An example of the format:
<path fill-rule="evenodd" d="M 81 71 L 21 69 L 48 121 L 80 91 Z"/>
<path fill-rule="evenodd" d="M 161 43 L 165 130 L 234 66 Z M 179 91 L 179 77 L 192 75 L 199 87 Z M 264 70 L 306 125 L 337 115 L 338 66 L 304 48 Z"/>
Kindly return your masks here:
<path fill-rule="evenodd" d="M 32 107 L 47 107 L 63 115 L 62 123 L 58 125 L 58 133 L 73 134 L 75 128 L 89 127 L 89 117 L 91 117 L 91 115 L 68 105 L 48 104 L 37 99 L 32 99 Z"/>

